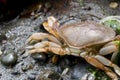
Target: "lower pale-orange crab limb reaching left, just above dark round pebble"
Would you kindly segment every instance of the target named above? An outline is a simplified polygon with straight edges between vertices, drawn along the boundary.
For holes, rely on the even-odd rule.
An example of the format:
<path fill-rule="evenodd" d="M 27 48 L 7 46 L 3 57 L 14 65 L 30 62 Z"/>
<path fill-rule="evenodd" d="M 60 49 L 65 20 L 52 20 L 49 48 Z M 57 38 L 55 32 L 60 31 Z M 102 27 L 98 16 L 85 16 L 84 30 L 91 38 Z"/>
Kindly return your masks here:
<path fill-rule="evenodd" d="M 54 42 L 49 42 L 49 41 L 42 41 L 40 43 L 35 44 L 34 46 L 28 46 L 27 47 L 28 51 L 27 53 L 36 53 L 36 52 L 52 52 L 54 54 L 58 55 L 65 55 L 66 51 L 61 48 L 60 45 L 54 43 Z"/>

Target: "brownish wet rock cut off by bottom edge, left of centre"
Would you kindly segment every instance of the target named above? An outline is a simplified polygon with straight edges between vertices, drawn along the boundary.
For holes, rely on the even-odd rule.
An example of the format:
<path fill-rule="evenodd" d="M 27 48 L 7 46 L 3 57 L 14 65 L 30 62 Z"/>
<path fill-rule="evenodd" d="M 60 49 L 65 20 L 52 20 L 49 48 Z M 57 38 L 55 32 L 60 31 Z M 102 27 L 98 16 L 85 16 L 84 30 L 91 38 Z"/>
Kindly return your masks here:
<path fill-rule="evenodd" d="M 59 73 L 52 70 L 45 70 L 43 73 L 37 78 L 37 80 L 59 80 Z"/>

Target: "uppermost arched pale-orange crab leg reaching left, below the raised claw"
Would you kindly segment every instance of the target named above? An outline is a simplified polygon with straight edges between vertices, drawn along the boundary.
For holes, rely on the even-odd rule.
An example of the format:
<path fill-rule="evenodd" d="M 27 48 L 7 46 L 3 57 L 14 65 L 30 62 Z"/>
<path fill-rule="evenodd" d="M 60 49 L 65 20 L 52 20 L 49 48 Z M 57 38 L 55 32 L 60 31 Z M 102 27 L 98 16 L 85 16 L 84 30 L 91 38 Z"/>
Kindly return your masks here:
<path fill-rule="evenodd" d="M 42 41 L 44 39 L 61 44 L 54 36 L 47 33 L 34 33 L 28 38 L 27 43 L 32 43 L 33 41 Z"/>

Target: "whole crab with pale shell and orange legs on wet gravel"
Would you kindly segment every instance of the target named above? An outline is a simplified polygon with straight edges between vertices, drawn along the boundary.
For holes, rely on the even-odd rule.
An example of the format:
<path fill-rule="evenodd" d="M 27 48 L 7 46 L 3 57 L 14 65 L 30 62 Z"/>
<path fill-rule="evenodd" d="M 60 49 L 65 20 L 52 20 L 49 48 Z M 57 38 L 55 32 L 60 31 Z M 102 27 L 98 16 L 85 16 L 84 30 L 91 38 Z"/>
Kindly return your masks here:
<path fill-rule="evenodd" d="M 27 43 L 27 53 L 49 53 L 73 55 L 84 58 L 89 64 L 106 72 L 113 80 L 118 80 L 120 68 L 112 62 L 119 51 L 120 40 L 115 31 L 93 21 L 75 22 L 60 26 L 53 16 L 43 23 L 48 33 L 34 33 Z M 112 53 L 111 60 L 104 55 Z M 109 67 L 112 67 L 112 71 Z M 116 74 L 117 73 L 117 74 Z"/>

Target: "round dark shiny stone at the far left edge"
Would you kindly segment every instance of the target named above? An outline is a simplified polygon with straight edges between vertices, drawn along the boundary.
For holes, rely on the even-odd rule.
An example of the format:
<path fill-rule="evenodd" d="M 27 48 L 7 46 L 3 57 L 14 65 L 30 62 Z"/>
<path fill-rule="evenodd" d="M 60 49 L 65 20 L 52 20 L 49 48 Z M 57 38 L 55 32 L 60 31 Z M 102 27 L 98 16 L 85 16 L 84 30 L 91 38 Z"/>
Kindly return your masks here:
<path fill-rule="evenodd" d="M 13 66 L 17 63 L 18 56 L 16 53 L 11 52 L 8 54 L 3 54 L 1 56 L 1 63 L 5 66 Z"/>

